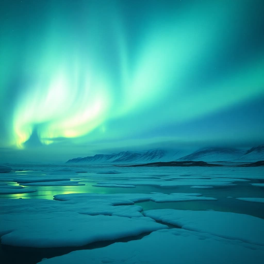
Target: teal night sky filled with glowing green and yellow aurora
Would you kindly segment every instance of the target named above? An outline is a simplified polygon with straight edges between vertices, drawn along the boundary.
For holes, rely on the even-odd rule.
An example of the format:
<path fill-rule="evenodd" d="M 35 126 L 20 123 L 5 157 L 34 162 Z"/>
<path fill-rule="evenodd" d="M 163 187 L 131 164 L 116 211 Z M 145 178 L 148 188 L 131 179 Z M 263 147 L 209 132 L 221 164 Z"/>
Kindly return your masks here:
<path fill-rule="evenodd" d="M 1 1 L 2 160 L 263 143 L 263 6 Z"/>

